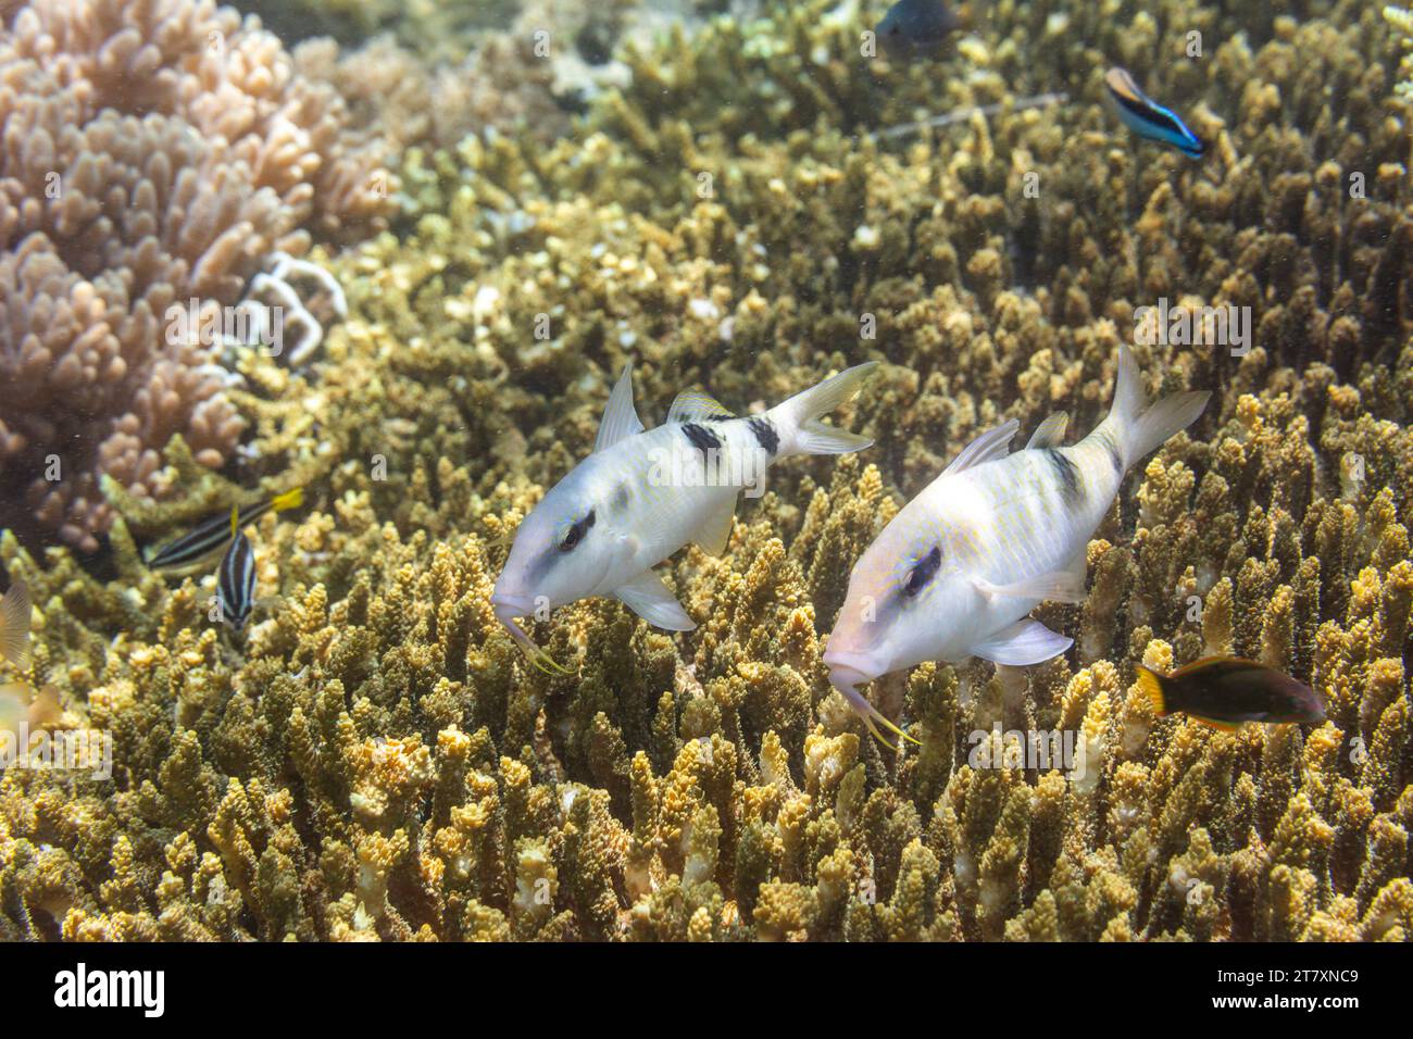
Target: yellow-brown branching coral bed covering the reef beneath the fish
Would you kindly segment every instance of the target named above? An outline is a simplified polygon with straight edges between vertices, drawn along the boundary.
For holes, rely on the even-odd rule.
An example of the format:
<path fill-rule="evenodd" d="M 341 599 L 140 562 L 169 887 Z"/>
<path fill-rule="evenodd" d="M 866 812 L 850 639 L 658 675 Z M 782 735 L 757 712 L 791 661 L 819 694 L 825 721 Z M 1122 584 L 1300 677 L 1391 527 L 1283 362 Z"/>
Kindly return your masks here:
<path fill-rule="evenodd" d="M 829 45 L 796 7 L 783 37 Z M 791 42 L 740 72 L 745 92 L 796 83 L 743 141 L 694 79 L 716 72 L 708 38 L 654 61 L 680 92 L 605 100 L 582 140 L 410 155 L 406 236 L 333 262 L 349 319 L 321 380 L 253 355 L 230 394 L 250 474 L 311 488 L 253 532 L 281 602 L 243 645 L 206 619 L 209 578 L 168 588 L 133 546 L 229 507 L 215 476 L 116 499 L 110 584 L 0 540 L 40 605 L 34 677 L 61 724 L 116 744 L 106 786 L 0 777 L 6 936 L 1407 940 L 1410 185 L 1386 168 L 1409 154 L 1388 41 L 1334 4 L 1217 44 L 1210 88 L 1154 71 L 1154 96 L 1218 131 L 1193 167 L 1084 105 L 1087 40 L 1125 61 L 1177 45 L 1146 10 L 1050 38 L 1044 4 L 996 7 L 995 76 L 948 90 L 1063 74 L 1065 115 L 855 141 L 800 85 L 831 62 Z M 870 86 L 831 83 L 868 110 Z M 887 103 L 911 119 L 924 89 Z M 853 558 L 981 430 L 1058 410 L 1091 428 L 1157 297 L 1251 307 L 1253 339 L 1135 348 L 1150 396 L 1217 393 L 1125 483 L 1087 601 L 1039 611 L 1075 649 L 879 683 L 921 741 L 885 751 L 820 667 Z M 721 558 L 660 568 L 694 632 L 585 601 L 536 623 L 571 669 L 544 674 L 486 597 L 629 358 L 650 424 L 687 386 L 749 410 L 882 359 L 839 416 L 876 444 L 781 464 Z M 170 462 L 192 471 L 181 447 Z M 1204 653 L 1307 680 L 1328 721 L 1154 717 L 1135 666 Z"/>

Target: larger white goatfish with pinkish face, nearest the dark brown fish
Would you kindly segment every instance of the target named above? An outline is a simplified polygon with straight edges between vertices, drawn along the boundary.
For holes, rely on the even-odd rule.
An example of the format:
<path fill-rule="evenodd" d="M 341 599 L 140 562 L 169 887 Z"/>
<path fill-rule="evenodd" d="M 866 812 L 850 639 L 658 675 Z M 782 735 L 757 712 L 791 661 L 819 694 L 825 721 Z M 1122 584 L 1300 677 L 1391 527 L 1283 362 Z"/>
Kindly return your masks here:
<path fill-rule="evenodd" d="M 1081 602 L 1089 537 L 1123 475 L 1207 407 L 1208 393 L 1146 406 L 1137 365 L 1119 348 L 1108 417 L 1061 447 L 1068 418 L 1046 418 L 1007 454 L 1015 418 L 983 433 L 868 547 L 829 633 L 829 683 L 863 715 L 904 735 L 856 687 L 924 660 L 982 657 L 1023 667 L 1072 639 L 1027 618 L 1044 601 Z"/>

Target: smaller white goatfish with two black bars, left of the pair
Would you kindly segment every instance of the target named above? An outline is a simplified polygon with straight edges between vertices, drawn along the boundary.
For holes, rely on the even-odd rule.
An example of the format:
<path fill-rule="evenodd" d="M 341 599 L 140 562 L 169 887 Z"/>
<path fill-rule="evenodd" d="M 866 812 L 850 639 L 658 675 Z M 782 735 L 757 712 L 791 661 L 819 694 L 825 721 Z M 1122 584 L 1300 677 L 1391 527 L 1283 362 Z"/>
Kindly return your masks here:
<path fill-rule="evenodd" d="M 820 418 L 855 394 L 877 362 L 856 365 L 760 414 L 738 418 L 705 393 L 677 394 L 667 421 L 644 431 L 625 365 L 593 454 L 555 483 L 516 530 L 490 604 L 541 670 L 558 669 L 516 618 L 615 595 L 649 623 L 697 626 L 653 573 L 684 544 L 719 556 L 736 496 L 762 493 L 770 465 L 791 455 L 835 455 L 873 441 Z M 562 670 L 562 669 L 561 669 Z"/>

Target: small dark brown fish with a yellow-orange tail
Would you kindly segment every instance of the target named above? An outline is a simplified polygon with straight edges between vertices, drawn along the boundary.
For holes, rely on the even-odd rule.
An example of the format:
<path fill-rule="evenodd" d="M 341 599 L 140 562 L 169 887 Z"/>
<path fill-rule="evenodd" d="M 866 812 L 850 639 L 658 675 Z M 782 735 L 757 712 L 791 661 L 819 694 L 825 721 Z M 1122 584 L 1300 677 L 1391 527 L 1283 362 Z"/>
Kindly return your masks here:
<path fill-rule="evenodd" d="M 1321 722 L 1316 691 L 1289 674 L 1255 660 L 1210 656 L 1159 674 L 1139 664 L 1139 688 L 1157 715 L 1183 712 L 1204 725 L 1232 732 L 1245 722 Z"/>

